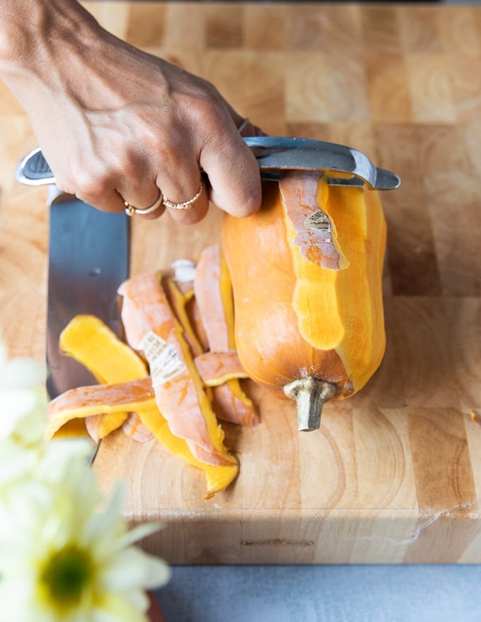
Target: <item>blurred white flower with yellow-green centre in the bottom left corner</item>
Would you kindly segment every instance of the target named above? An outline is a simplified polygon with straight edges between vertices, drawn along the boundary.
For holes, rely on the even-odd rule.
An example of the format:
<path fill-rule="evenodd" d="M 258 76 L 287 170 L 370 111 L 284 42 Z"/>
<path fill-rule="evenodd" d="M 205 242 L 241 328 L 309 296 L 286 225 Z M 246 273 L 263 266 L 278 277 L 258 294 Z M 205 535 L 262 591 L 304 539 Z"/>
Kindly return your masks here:
<path fill-rule="evenodd" d="M 159 525 L 128 531 L 121 492 L 99 512 L 95 472 L 79 459 L 51 482 L 15 487 L 10 521 L 0 520 L 2 622 L 146 620 L 145 590 L 164 585 L 169 568 L 133 546 Z"/>

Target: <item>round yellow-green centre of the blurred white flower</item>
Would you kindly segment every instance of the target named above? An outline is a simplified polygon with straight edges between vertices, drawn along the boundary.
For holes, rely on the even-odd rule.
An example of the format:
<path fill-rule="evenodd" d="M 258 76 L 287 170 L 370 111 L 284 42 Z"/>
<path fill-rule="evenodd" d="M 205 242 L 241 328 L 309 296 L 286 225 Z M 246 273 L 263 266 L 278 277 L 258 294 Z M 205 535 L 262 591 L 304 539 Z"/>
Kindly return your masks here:
<path fill-rule="evenodd" d="M 91 556 L 71 544 L 48 559 L 40 575 L 40 583 L 50 604 L 65 610 L 79 605 L 82 592 L 91 584 L 92 577 Z"/>

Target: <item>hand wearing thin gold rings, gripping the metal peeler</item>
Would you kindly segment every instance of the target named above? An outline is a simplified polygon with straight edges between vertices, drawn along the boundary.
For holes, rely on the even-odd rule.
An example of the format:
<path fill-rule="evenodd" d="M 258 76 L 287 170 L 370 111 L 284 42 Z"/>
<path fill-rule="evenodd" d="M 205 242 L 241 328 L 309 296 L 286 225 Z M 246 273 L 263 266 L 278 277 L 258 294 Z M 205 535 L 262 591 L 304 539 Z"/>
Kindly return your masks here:
<path fill-rule="evenodd" d="M 235 216 L 256 211 L 260 174 L 237 129 L 243 118 L 216 88 L 110 35 L 80 6 L 73 14 L 54 21 L 55 36 L 37 37 L 33 76 L 8 81 L 59 188 L 104 211 L 124 201 L 144 209 L 160 192 L 191 199 L 202 169 L 203 192 L 188 211 L 168 209 L 173 218 L 200 221 L 209 198 Z"/>

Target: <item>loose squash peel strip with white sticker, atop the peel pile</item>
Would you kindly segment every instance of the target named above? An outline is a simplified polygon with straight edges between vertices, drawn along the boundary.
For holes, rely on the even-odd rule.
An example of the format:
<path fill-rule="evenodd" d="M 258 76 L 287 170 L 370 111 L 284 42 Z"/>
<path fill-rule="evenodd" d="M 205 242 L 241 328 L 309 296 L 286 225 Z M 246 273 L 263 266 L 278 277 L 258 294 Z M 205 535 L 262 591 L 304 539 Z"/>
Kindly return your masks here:
<path fill-rule="evenodd" d="M 238 464 L 224 445 L 183 330 L 161 287 L 161 273 L 124 281 L 122 321 L 129 345 L 149 360 L 158 409 L 170 430 L 184 438 L 202 462 Z"/>

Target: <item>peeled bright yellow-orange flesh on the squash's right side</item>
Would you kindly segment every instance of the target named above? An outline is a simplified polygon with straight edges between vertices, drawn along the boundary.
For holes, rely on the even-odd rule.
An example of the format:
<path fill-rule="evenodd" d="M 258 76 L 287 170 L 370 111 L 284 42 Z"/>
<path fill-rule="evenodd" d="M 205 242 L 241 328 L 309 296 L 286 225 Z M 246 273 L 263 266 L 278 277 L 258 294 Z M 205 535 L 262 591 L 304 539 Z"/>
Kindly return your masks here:
<path fill-rule="evenodd" d="M 340 186 L 327 192 L 321 205 L 335 223 L 348 264 L 332 270 L 306 262 L 288 230 L 296 275 L 292 304 L 303 339 L 318 350 L 334 349 L 357 391 L 381 363 L 386 346 L 381 295 L 386 224 L 376 192 Z"/>

